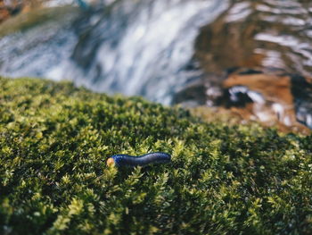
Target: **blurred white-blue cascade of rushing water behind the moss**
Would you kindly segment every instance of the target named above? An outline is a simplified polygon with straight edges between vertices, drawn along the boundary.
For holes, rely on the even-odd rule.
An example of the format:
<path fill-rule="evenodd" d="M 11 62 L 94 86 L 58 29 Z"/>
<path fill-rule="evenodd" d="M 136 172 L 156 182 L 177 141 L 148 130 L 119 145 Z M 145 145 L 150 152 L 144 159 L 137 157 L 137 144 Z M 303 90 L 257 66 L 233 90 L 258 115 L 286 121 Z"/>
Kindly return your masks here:
<path fill-rule="evenodd" d="M 0 72 L 66 78 L 95 91 L 169 104 L 193 77 L 185 67 L 199 28 L 225 9 L 226 1 L 218 0 L 130 0 L 76 19 L 66 15 L 64 24 L 48 21 L 3 38 Z"/>

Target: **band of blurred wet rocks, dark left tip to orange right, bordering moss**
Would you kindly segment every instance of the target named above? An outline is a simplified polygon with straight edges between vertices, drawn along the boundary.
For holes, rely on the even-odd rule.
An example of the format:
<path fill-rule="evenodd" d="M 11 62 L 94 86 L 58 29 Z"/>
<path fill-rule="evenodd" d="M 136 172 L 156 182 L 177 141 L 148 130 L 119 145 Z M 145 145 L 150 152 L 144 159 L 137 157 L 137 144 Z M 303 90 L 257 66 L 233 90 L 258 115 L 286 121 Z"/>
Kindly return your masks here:
<path fill-rule="evenodd" d="M 206 121 L 214 120 L 211 112 L 215 112 L 223 113 L 226 122 L 255 121 L 285 132 L 311 133 L 312 87 L 308 78 L 281 70 L 229 71 L 221 78 L 220 87 L 201 80 L 178 92 L 175 103 L 192 107 L 192 112 Z"/>

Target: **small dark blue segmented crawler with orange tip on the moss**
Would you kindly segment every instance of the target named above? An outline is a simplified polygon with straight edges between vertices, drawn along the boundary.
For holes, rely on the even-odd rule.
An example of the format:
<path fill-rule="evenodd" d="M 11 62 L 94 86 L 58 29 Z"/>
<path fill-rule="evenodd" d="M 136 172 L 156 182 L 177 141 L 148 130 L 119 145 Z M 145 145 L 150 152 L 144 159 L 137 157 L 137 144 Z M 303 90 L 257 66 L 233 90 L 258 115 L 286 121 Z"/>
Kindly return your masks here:
<path fill-rule="evenodd" d="M 107 164 L 115 165 L 117 167 L 127 166 L 145 166 L 147 164 L 165 164 L 169 163 L 171 156 L 166 153 L 151 153 L 147 155 L 112 155 L 108 160 Z"/>

